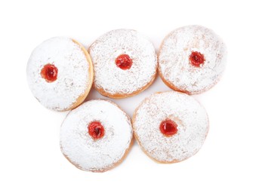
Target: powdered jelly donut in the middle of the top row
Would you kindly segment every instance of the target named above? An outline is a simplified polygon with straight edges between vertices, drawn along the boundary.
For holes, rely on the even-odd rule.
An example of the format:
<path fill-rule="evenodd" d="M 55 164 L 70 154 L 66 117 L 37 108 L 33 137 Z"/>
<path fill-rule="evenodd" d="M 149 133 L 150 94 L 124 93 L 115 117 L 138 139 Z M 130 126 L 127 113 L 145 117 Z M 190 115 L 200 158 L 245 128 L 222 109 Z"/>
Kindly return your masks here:
<path fill-rule="evenodd" d="M 94 87 L 103 96 L 134 96 L 156 78 L 153 44 L 134 30 L 106 32 L 91 44 L 89 54 L 94 63 Z"/>

